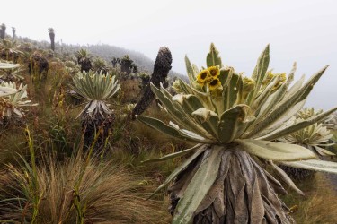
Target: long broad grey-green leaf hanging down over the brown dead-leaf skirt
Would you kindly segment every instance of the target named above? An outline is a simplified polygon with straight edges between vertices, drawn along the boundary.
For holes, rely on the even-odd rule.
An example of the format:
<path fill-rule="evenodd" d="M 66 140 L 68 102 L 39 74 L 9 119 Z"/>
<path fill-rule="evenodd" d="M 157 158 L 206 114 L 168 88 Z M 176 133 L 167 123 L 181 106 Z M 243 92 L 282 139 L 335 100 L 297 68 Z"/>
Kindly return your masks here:
<path fill-rule="evenodd" d="M 223 147 L 221 146 L 213 146 L 211 150 L 205 152 L 208 153 L 207 157 L 203 159 L 200 168 L 178 202 L 173 216 L 173 224 L 187 224 L 193 221 L 194 212 L 217 179 L 222 152 Z"/>

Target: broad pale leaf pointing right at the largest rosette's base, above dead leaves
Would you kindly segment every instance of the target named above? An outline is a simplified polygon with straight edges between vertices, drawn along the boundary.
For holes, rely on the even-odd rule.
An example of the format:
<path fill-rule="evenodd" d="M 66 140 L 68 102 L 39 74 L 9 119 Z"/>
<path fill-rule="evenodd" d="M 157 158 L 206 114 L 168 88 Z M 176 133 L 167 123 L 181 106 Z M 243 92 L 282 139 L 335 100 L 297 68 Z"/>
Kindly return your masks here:
<path fill-rule="evenodd" d="M 238 139 L 244 151 L 257 157 L 274 161 L 293 161 L 298 159 L 314 159 L 315 153 L 305 147 L 280 142 L 253 139 Z"/>

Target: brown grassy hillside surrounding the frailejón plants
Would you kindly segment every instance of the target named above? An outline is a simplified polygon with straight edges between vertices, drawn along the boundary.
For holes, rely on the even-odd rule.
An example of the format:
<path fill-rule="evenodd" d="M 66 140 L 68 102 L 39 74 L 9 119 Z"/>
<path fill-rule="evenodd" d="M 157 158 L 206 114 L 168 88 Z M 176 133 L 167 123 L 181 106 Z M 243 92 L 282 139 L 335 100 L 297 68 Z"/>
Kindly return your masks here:
<path fill-rule="evenodd" d="M 1 109 L 17 107 L 22 112 L 22 117 L 15 116 L 14 110 L 10 117 L 1 116 L 0 222 L 170 223 L 167 187 L 152 199 L 146 198 L 188 155 L 164 162 L 142 161 L 182 151 L 191 143 L 129 119 L 133 103 L 144 90 L 141 79 L 125 79 L 120 68 L 109 67 L 109 74 L 120 83 L 117 94 L 105 100 L 111 109 L 110 123 L 96 126 L 92 138 L 86 141 L 86 128 L 96 120 L 89 118 L 92 123 L 85 123 L 81 111 L 91 102 L 76 99 L 70 92 L 80 67 L 75 52 L 82 47 L 57 44 L 56 52 L 52 52 L 48 42 L 30 39 L 18 39 L 19 45 L 22 53 L 17 58 L 13 53 L 2 56 L 15 58 L 22 65 L 20 71 L 12 71 L 18 71 L 22 78 L 8 77 L 18 85 L 27 85 L 27 98 L 22 101 L 31 100 L 33 106 L 0 104 Z M 128 54 L 141 70 L 150 72 L 153 67 L 146 56 L 120 47 L 85 48 L 108 63 L 113 56 Z M 34 51 L 40 61 L 35 60 Z M 40 71 L 42 64 L 31 63 L 41 62 L 42 57 L 49 66 Z M 112 79 L 109 74 L 103 79 Z M 145 115 L 169 119 L 157 102 L 146 109 Z M 109 125 L 106 133 L 105 124 Z M 104 138 L 102 133 L 106 134 Z M 297 223 L 337 223 L 337 195 L 324 175 L 297 184 L 306 197 L 290 189 L 283 197 Z"/>

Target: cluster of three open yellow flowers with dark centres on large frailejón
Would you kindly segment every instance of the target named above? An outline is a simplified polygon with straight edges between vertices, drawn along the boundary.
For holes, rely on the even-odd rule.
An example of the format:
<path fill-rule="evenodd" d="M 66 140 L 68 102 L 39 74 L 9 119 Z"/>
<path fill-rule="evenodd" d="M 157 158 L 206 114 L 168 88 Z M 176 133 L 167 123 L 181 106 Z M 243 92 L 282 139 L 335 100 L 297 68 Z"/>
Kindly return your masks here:
<path fill-rule="evenodd" d="M 197 75 L 197 83 L 203 87 L 205 84 L 208 85 L 210 91 L 217 90 L 222 87 L 218 76 L 220 74 L 219 66 L 211 66 L 207 69 L 202 70 Z"/>

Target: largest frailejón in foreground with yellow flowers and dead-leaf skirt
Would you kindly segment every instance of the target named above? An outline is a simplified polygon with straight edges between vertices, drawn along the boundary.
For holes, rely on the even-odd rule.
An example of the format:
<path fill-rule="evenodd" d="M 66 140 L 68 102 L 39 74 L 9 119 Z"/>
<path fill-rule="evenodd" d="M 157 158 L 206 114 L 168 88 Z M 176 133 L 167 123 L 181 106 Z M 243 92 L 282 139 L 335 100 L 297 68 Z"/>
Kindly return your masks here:
<path fill-rule="evenodd" d="M 262 163 L 271 164 L 297 192 L 275 163 L 337 173 L 336 163 L 319 160 L 305 147 L 271 142 L 324 120 L 337 108 L 289 124 L 326 67 L 307 82 L 302 78 L 290 87 L 296 65 L 288 75 L 268 72 L 269 50 L 268 46 L 262 52 L 253 75 L 244 77 L 222 64 L 212 44 L 206 68 L 200 70 L 186 57 L 190 82 L 175 82 L 177 95 L 152 85 L 172 121 L 166 125 L 147 116 L 137 116 L 138 120 L 164 134 L 198 143 L 148 160 L 191 153 L 157 189 L 173 181 L 169 188 L 173 223 L 291 223 L 287 206 L 278 198 L 286 191 Z"/>

